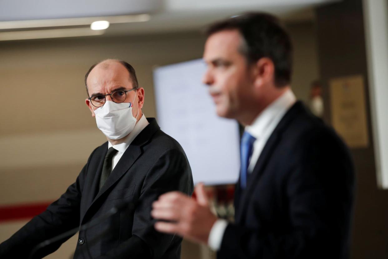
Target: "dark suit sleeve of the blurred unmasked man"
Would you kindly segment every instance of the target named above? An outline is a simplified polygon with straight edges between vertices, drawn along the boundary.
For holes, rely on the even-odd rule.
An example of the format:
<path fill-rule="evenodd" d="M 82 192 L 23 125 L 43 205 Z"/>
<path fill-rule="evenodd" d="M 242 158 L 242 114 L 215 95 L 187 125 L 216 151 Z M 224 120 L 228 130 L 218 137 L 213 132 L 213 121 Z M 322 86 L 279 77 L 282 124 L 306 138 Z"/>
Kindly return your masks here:
<path fill-rule="evenodd" d="M 290 228 L 275 233 L 230 223 L 219 258 L 346 257 L 354 192 L 348 150 L 327 132 L 305 134 L 297 143 L 282 187 Z"/>

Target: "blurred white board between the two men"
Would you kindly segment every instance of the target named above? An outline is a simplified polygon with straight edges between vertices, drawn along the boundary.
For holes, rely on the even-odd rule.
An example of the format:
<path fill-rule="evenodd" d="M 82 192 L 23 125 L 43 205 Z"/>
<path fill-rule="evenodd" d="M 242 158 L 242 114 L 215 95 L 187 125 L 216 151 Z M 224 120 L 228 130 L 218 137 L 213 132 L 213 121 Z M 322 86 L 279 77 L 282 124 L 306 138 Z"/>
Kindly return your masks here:
<path fill-rule="evenodd" d="M 236 183 L 240 168 L 239 128 L 235 120 L 216 115 L 201 78 L 202 59 L 154 70 L 158 123 L 186 152 L 194 184 Z"/>

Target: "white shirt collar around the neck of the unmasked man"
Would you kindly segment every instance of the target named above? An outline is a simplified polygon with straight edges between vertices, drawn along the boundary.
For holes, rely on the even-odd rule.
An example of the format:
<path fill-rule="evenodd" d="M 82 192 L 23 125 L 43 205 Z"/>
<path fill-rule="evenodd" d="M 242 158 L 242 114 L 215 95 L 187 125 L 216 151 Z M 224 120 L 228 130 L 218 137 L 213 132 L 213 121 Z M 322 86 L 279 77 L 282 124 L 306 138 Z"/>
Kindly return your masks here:
<path fill-rule="evenodd" d="M 276 118 L 284 115 L 286 111 L 296 102 L 296 97 L 291 89 L 284 92 L 279 98 L 267 106 L 245 130 L 256 139 L 262 136 L 270 128 Z M 279 118 L 280 120 L 280 118 Z"/>

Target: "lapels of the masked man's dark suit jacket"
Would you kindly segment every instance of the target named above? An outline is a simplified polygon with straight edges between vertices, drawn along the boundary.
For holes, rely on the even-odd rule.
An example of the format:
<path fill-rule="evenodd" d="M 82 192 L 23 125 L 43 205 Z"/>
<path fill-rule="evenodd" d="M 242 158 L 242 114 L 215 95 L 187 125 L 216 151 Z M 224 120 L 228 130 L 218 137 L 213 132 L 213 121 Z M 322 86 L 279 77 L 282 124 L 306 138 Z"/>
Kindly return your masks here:
<path fill-rule="evenodd" d="M 103 163 L 103 158 L 101 158 L 101 162 L 99 163 L 98 167 L 98 173 L 95 174 L 94 180 L 93 180 L 93 185 L 92 185 L 92 190 L 95 190 L 95 193 L 97 195 L 90 196 L 90 200 L 95 197 L 93 200 L 90 201 L 88 205 L 88 209 L 85 210 L 85 214 L 81 215 L 81 222 L 83 221 L 83 218 L 87 214 L 87 211 L 92 207 L 95 203 L 98 202 L 100 197 L 111 187 L 132 167 L 133 163 L 136 162 L 136 160 L 139 158 L 139 156 L 142 155 L 142 146 L 147 144 L 152 135 L 159 130 L 159 125 L 156 123 L 155 118 L 147 118 L 149 124 L 147 127 L 145 127 L 139 135 L 132 141 L 132 143 L 128 146 L 128 148 L 125 150 L 123 156 L 121 156 L 119 162 L 117 165 L 114 167 L 112 170 L 111 174 L 109 175 L 108 179 L 106 180 L 104 186 L 98 191 L 99 189 L 99 180 L 100 180 L 100 175 L 101 175 L 101 170 L 102 170 L 102 163 Z M 107 146 L 106 146 L 106 151 L 107 152 Z"/>

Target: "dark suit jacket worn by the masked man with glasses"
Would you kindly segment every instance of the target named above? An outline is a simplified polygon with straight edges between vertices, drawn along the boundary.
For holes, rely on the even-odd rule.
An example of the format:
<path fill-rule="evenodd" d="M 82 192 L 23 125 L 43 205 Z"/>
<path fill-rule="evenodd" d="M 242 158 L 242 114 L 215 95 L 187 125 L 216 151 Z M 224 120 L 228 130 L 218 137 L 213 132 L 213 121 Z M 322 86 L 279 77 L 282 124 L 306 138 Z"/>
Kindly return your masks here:
<path fill-rule="evenodd" d="M 120 211 L 79 233 L 74 258 L 180 258 L 181 238 L 157 232 L 151 204 L 167 191 L 192 194 L 189 162 L 175 139 L 159 129 L 154 118 L 133 140 L 99 191 L 107 142 L 96 148 L 76 182 L 0 245 L 0 258 L 27 258 L 33 247 L 127 203 Z M 36 257 L 54 252 L 62 242 L 48 245 Z M 81 244 L 82 243 L 82 244 Z"/>

